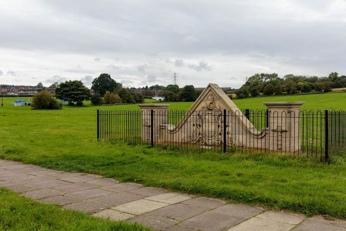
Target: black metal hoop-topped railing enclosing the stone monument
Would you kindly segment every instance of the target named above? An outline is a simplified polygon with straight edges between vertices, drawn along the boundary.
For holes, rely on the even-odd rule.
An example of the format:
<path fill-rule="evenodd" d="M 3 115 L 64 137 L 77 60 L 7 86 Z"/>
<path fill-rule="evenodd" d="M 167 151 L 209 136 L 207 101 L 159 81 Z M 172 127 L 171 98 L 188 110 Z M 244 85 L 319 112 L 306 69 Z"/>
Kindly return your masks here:
<path fill-rule="evenodd" d="M 328 161 L 346 149 L 346 112 L 97 110 L 97 138 L 222 152 L 304 154 Z"/>

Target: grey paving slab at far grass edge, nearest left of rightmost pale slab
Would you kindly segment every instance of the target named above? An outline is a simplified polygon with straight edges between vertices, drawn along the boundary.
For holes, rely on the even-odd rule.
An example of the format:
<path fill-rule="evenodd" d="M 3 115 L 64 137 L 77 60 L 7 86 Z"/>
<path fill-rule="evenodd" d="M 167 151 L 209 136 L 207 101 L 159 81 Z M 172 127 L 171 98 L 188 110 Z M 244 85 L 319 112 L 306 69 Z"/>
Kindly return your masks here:
<path fill-rule="evenodd" d="M 224 213 L 230 216 L 236 216 L 244 219 L 257 215 L 262 211 L 263 209 L 261 208 L 245 204 L 227 204 L 218 207 L 215 210 L 212 210 L 212 212 L 215 213 Z"/>

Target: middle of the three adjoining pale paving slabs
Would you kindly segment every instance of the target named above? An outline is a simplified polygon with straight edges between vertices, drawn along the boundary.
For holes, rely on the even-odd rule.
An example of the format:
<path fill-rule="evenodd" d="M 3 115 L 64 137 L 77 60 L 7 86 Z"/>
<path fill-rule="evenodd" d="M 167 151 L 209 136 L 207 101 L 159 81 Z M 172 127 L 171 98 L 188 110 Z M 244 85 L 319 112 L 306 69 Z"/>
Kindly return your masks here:
<path fill-rule="evenodd" d="M 138 201 L 129 202 L 126 204 L 112 207 L 112 209 L 119 210 L 119 211 L 125 212 L 125 213 L 131 213 L 131 214 L 139 215 L 142 213 L 147 213 L 147 212 L 156 210 L 158 208 L 165 207 L 167 205 L 169 205 L 169 204 L 141 199 Z"/>

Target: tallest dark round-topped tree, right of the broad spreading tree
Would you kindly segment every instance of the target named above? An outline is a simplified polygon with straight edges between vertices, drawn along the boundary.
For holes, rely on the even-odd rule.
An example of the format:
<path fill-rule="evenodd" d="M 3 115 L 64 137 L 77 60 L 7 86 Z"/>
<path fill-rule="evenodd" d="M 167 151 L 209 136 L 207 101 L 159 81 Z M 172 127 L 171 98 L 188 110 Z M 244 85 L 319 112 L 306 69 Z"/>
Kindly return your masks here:
<path fill-rule="evenodd" d="M 106 91 L 113 92 L 115 89 L 117 91 L 118 85 L 119 83 L 112 79 L 110 74 L 103 73 L 92 81 L 91 89 L 103 96 L 106 94 Z"/>

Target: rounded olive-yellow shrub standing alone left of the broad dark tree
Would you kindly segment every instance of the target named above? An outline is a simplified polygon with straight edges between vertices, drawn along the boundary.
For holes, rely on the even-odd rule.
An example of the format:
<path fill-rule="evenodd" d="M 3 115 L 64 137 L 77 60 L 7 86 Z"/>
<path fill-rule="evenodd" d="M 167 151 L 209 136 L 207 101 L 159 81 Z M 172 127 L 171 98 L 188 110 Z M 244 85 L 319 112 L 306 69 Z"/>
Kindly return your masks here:
<path fill-rule="evenodd" d="M 33 97 L 33 104 L 31 104 L 31 109 L 49 109 L 58 110 L 62 109 L 63 104 L 53 98 L 53 94 L 47 90 L 43 90 Z"/>

